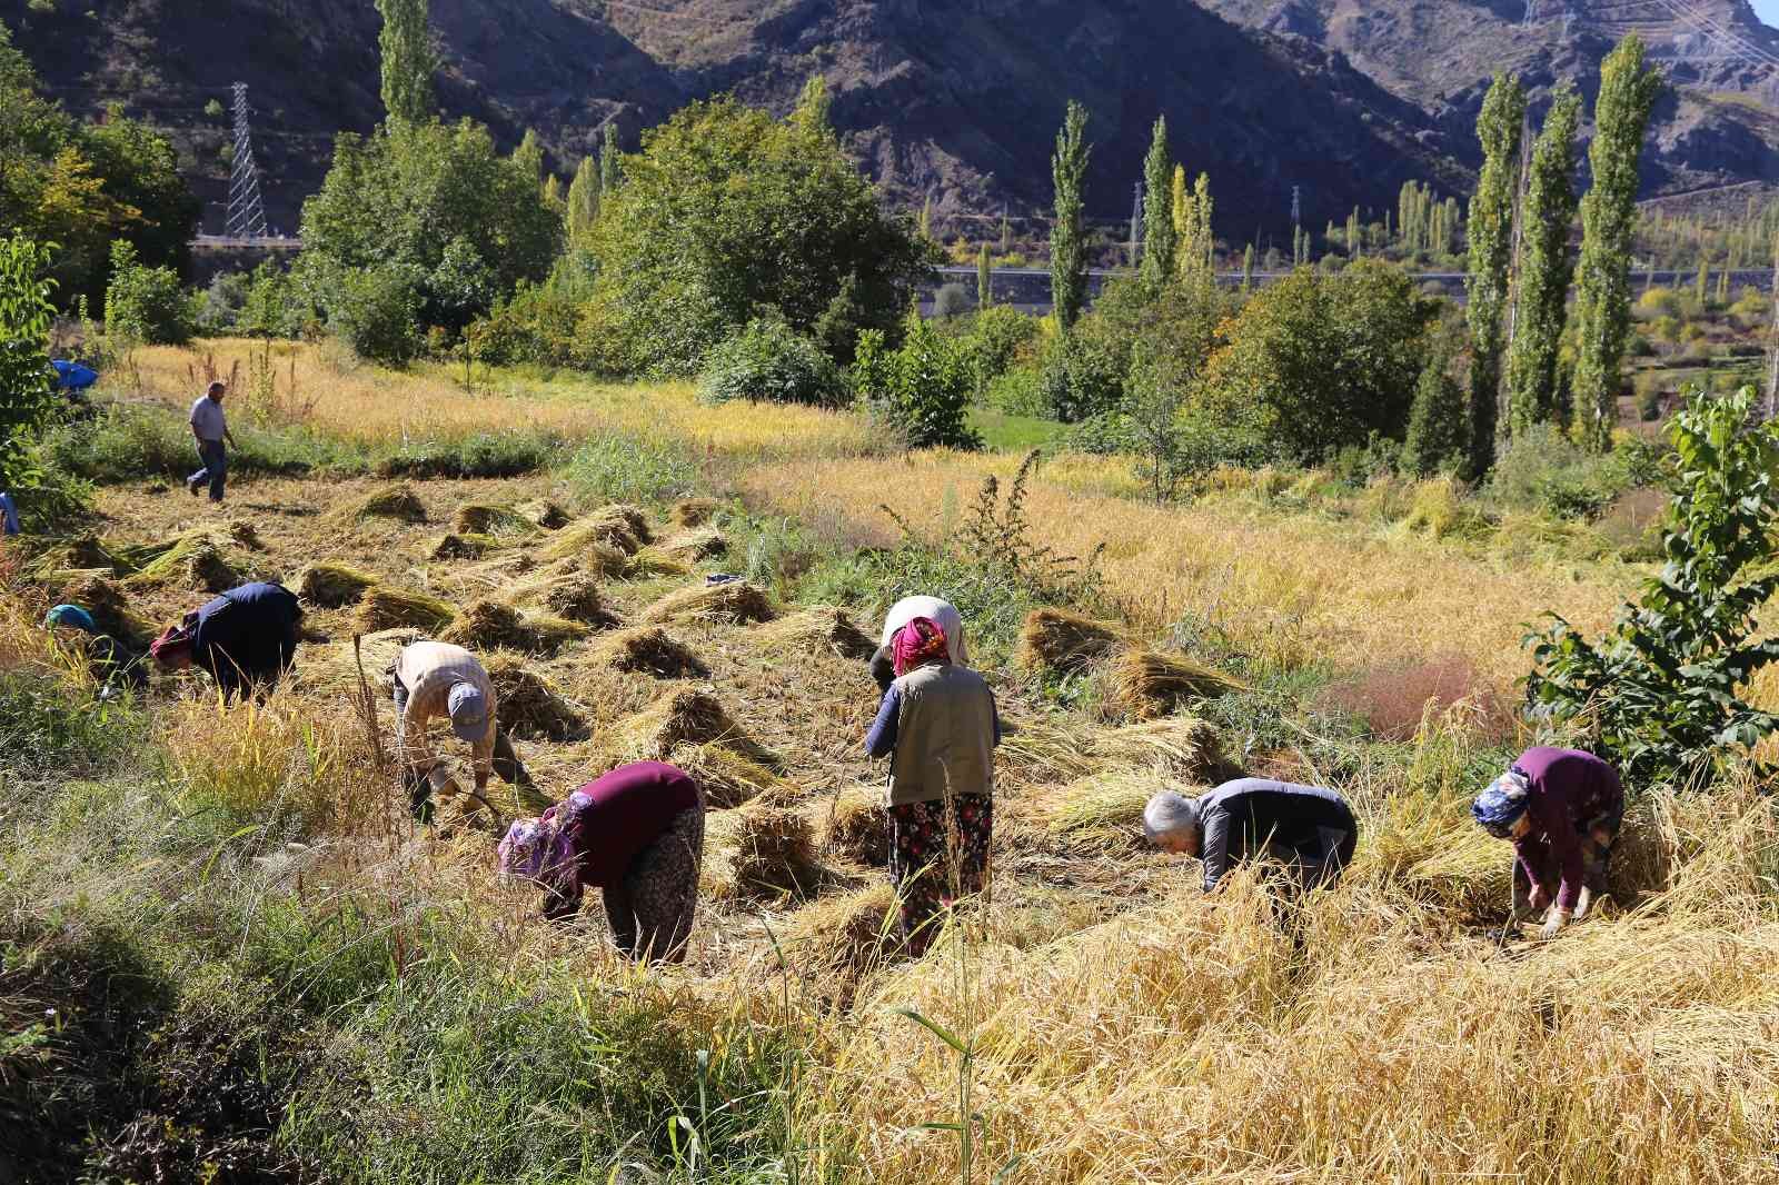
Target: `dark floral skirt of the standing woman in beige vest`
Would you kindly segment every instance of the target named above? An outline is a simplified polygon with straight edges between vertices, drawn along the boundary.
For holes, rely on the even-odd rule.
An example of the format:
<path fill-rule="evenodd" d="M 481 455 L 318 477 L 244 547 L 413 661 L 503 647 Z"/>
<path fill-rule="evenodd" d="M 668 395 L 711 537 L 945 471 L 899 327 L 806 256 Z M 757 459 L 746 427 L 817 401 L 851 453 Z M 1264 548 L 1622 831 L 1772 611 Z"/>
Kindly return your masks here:
<path fill-rule="evenodd" d="M 913 954 L 927 950 L 941 915 L 959 897 L 987 886 L 993 827 L 994 802 L 986 794 L 890 808 L 890 875 L 902 899 L 902 934 Z"/>

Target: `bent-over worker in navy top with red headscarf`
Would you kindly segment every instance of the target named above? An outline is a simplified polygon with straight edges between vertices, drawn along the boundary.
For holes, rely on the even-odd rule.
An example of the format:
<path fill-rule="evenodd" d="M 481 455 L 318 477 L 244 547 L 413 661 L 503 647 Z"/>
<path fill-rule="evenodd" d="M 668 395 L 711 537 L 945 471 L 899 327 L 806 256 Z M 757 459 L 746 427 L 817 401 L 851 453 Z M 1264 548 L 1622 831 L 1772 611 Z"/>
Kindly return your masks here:
<path fill-rule="evenodd" d="M 265 692 L 294 665 L 301 623 L 302 605 L 290 589 L 254 580 L 185 614 L 148 653 L 167 671 L 208 671 L 226 696 Z"/>

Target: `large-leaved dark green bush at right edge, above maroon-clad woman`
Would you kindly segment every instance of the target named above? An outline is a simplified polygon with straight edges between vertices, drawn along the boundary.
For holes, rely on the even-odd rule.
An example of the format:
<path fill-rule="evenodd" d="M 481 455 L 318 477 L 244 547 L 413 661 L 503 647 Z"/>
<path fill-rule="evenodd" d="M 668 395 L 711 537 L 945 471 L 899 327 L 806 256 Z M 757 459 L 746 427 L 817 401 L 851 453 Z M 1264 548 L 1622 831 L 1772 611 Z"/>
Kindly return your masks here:
<path fill-rule="evenodd" d="M 1779 660 L 1759 612 L 1779 591 L 1779 425 L 1751 423 L 1752 388 L 1694 390 L 1669 425 L 1674 472 L 1663 566 L 1615 625 L 1589 641 L 1560 616 L 1530 633 L 1532 719 L 1615 762 L 1635 788 L 1699 786 L 1779 717 L 1743 699 Z"/>

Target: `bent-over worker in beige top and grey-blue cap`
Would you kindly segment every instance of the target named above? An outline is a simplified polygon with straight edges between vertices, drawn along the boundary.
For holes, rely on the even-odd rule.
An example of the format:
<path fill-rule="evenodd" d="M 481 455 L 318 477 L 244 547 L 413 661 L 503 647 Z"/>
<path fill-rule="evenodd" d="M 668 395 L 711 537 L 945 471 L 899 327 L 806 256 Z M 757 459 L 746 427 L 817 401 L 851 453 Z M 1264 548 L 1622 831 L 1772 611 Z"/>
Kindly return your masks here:
<path fill-rule="evenodd" d="M 512 786 L 532 785 L 495 719 L 495 683 L 475 655 L 450 642 L 413 642 L 395 657 L 390 674 L 395 678 L 395 751 L 418 817 L 431 817 L 434 799 L 457 794 L 457 783 L 427 737 L 427 724 L 436 719 L 447 721 L 452 735 L 468 742 L 475 797 L 482 804 L 487 804 L 489 772 Z"/>

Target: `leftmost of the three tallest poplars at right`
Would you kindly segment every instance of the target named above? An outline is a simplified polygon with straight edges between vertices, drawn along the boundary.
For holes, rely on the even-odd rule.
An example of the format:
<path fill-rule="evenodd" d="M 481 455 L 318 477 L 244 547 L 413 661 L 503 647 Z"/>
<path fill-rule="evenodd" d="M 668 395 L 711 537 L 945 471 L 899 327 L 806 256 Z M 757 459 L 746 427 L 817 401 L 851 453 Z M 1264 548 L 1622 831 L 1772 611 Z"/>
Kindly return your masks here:
<path fill-rule="evenodd" d="M 1477 116 L 1482 173 L 1469 199 L 1469 276 L 1464 281 L 1469 320 L 1469 470 L 1482 477 L 1494 466 L 1496 400 L 1501 388 L 1501 311 L 1507 306 L 1507 265 L 1512 254 L 1514 185 L 1519 180 L 1519 123 L 1526 93 L 1517 75 L 1496 75 Z"/>

